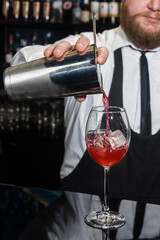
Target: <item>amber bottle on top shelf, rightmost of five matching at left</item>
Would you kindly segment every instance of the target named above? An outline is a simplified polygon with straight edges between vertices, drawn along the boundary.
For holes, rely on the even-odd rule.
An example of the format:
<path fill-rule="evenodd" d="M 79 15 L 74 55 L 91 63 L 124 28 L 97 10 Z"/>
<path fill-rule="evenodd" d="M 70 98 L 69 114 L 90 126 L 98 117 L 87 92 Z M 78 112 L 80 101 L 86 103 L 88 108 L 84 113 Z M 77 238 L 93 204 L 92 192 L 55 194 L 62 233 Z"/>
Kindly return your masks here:
<path fill-rule="evenodd" d="M 50 22 L 52 13 L 51 0 L 44 0 L 42 3 L 42 18 L 44 22 Z"/>

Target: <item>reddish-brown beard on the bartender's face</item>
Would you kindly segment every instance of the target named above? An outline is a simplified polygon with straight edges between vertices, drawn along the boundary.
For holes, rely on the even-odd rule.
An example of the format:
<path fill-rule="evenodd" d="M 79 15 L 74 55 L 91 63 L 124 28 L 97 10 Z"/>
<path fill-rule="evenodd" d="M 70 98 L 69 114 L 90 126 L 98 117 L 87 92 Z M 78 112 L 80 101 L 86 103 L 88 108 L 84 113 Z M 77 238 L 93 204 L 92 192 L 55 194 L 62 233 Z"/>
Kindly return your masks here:
<path fill-rule="evenodd" d="M 128 6 L 123 4 L 120 12 L 120 24 L 128 39 L 138 48 L 141 49 L 154 49 L 160 46 L 160 30 L 159 31 L 145 31 L 144 27 L 141 27 L 136 22 L 138 16 L 149 16 L 149 12 L 137 15 L 131 15 L 129 13 Z M 160 16 L 157 16 L 160 19 Z"/>

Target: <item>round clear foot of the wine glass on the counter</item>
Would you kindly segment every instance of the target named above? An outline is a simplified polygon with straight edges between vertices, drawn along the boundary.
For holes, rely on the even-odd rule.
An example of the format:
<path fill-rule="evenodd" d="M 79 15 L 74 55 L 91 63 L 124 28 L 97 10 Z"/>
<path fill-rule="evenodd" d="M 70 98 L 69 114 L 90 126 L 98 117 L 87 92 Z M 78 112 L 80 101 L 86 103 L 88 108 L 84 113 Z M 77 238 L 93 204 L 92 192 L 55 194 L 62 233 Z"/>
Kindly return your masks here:
<path fill-rule="evenodd" d="M 122 227 L 126 220 L 123 215 L 116 212 L 94 211 L 85 217 L 85 223 L 94 228 L 114 230 Z"/>

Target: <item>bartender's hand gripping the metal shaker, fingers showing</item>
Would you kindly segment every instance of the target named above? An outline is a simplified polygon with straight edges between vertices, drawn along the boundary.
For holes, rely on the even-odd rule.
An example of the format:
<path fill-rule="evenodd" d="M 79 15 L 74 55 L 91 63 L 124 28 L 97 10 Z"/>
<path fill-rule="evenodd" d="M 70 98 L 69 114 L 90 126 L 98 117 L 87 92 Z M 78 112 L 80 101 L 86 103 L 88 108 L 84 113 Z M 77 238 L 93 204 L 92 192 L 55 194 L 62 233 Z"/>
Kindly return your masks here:
<path fill-rule="evenodd" d="M 75 48 L 78 54 L 83 55 L 86 53 L 87 47 L 90 45 L 89 39 L 86 37 L 81 37 L 76 42 L 75 46 L 72 46 L 69 42 L 61 41 L 58 44 L 52 44 L 44 51 L 45 57 L 54 56 L 57 61 L 62 61 L 68 51 Z M 103 65 L 108 58 L 108 50 L 106 47 L 99 47 L 97 56 L 97 63 Z M 82 102 L 85 100 L 86 95 L 79 95 L 75 97 L 77 101 Z"/>

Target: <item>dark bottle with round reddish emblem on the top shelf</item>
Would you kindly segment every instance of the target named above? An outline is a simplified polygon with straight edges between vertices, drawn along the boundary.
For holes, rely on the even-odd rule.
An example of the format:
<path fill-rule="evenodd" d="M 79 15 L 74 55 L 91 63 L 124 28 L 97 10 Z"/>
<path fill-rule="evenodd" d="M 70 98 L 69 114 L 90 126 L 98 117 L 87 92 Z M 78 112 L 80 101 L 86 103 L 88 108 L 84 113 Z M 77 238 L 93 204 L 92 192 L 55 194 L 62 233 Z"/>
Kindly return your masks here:
<path fill-rule="evenodd" d="M 72 23 L 73 1 L 63 1 L 63 23 Z"/>

